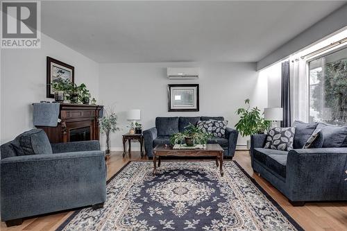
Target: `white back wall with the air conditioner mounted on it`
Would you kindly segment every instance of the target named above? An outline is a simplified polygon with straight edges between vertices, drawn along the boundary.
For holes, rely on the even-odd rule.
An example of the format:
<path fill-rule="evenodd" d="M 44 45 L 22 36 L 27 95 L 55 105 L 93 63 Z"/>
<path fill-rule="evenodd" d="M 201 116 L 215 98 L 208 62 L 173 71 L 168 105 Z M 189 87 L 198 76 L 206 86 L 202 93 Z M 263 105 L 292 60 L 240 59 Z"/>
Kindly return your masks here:
<path fill-rule="evenodd" d="M 121 149 L 126 128 L 126 111 L 140 109 L 144 129 L 155 126 L 155 117 L 223 116 L 234 128 L 237 108 L 244 99 L 252 105 L 267 106 L 267 81 L 255 71 L 255 63 L 115 63 L 100 64 L 100 99 L 115 105 L 123 130 L 112 135 L 112 150 Z M 167 67 L 200 67 L 198 80 L 169 80 Z M 167 84 L 199 83 L 200 112 L 167 112 Z M 103 136 L 102 136 L 103 137 Z M 238 144 L 245 145 L 246 138 Z M 105 146 L 104 137 L 101 145 Z M 138 147 L 138 144 L 135 144 Z M 135 146 L 134 145 L 134 146 Z"/>

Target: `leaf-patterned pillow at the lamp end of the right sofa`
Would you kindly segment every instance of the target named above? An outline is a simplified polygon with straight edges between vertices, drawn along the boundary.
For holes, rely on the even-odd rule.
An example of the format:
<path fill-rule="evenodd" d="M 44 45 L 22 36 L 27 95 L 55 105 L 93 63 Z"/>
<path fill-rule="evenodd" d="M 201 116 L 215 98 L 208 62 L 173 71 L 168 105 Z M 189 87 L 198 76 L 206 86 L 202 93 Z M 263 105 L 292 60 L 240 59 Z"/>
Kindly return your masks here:
<path fill-rule="evenodd" d="M 266 137 L 264 148 L 271 148 L 281 151 L 293 149 L 295 127 L 272 128 Z"/>

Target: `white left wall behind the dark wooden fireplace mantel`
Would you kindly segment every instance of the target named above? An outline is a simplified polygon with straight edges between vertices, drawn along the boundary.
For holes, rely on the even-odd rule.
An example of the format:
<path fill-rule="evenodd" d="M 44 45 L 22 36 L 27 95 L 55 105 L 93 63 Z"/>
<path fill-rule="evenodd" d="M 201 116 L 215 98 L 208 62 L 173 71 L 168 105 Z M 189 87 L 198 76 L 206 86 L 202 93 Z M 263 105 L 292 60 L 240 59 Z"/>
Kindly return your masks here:
<path fill-rule="evenodd" d="M 99 64 L 51 37 L 41 39 L 41 49 L 1 50 L 1 144 L 33 128 L 31 104 L 47 100 L 46 56 L 74 66 L 75 83 L 99 99 Z"/>

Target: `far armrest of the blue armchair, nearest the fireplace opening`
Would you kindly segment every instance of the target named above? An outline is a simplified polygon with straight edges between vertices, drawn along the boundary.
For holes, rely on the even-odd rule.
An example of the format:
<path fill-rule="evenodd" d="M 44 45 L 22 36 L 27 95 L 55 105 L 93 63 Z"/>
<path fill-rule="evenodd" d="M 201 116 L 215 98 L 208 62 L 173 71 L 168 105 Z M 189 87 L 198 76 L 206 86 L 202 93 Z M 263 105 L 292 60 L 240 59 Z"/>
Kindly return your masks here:
<path fill-rule="evenodd" d="M 70 153 L 79 151 L 100 151 L 99 140 L 51 144 L 53 153 Z"/>

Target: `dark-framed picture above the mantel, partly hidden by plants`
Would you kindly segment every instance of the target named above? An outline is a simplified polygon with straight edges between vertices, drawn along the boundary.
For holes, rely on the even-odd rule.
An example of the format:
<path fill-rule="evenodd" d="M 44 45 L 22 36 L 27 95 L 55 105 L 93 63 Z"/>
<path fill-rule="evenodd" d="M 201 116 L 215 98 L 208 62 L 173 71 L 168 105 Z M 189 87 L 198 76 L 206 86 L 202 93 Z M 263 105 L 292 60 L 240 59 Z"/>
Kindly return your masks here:
<path fill-rule="evenodd" d="M 47 56 L 47 87 L 46 97 L 54 98 L 54 90 L 51 89 L 51 83 L 53 80 L 58 78 L 69 79 L 72 83 L 74 82 L 75 68 L 71 65 L 61 62 L 54 58 Z"/>

